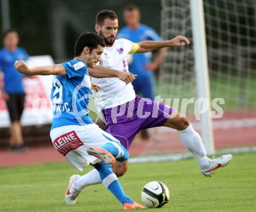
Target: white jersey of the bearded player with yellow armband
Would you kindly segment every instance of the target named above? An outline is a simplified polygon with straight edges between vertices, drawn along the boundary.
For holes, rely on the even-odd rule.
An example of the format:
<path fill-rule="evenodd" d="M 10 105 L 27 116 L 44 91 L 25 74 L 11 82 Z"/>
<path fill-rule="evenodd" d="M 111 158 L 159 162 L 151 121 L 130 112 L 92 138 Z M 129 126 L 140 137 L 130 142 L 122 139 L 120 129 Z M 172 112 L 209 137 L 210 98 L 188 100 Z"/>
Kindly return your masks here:
<path fill-rule="evenodd" d="M 133 50 L 133 42 L 127 39 L 116 39 L 111 47 L 104 47 L 99 65 L 118 71 L 128 71 L 126 57 Z M 101 89 L 93 90 L 93 97 L 98 111 L 116 107 L 133 100 L 136 95 L 131 83 L 127 84 L 118 78 L 91 78 Z"/>

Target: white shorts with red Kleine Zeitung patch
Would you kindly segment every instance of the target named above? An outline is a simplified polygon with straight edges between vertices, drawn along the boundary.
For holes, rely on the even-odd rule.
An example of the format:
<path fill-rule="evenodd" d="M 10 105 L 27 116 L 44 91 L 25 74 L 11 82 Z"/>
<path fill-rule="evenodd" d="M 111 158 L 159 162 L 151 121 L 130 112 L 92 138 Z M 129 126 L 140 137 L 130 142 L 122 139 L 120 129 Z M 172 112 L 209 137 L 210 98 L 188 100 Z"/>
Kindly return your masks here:
<path fill-rule="evenodd" d="M 83 171 L 90 163 L 98 162 L 98 158 L 88 155 L 88 147 L 101 147 L 106 142 L 119 143 L 115 137 L 95 124 L 57 127 L 50 131 L 50 136 L 55 149 L 79 171 Z"/>

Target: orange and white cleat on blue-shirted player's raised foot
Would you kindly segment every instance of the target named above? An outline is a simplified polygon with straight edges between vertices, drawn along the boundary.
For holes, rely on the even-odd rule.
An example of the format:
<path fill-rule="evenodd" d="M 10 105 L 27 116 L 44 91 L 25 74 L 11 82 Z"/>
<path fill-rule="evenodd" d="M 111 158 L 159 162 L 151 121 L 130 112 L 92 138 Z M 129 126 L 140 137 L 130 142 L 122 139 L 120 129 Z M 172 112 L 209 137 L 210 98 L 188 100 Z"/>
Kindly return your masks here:
<path fill-rule="evenodd" d="M 109 151 L 106 151 L 105 149 L 98 148 L 98 147 L 88 147 L 87 153 L 89 155 L 95 156 L 96 158 L 99 158 L 102 160 L 102 162 L 109 164 L 109 165 L 115 165 L 116 159 L 110 153 Z"/>

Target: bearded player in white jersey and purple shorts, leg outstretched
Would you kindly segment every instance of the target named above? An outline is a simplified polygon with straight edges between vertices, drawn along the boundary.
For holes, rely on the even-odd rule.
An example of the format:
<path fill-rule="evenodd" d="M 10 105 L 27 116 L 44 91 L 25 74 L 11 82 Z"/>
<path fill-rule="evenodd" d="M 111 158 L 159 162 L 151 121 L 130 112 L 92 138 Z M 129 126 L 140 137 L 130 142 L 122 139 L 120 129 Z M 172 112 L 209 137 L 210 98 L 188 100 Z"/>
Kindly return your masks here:
<path fill-rule="evenodd" d="M 112 10 L 99 12 L 95 22 L 95 31 L 104 38 L 106 43 L 100 64 L 120 72 L 129 72 L 126 62 L 128 54 L 150 52 L 161 47 L 184 46 L 190 43 L 186 37 L 180 35 L 169 41 L 140 43 L 133 43 L 127 39 L 115 39 L 118 33 L 118 17 Z M 204 176 L 211 176 L 216 169 L 226 166 L 232 159 L 230 154 L 215 159 L 208 158 L 200 135 L 193 129 L 187 117 L 181 116 L 179 112 L 167 105 L 136 96 L 131 83 L 126 85 L 118 78 L 92 78 L 92 82 L 101 87 L 99 92 L 94 92 L 94 101 L 98 111 L 104 115 L 105 130 L 117 138 L 125 148 L 129 149 L 139 130 L 166 126 L 177 130 L 183 144 L 193 154 Z M 127 160 L 116 162 L 113 170 L 120 177 L 125 174 L 127 166 Z M 81 178 L 84 183 L 80 188 L 101 182 L 96 169 Z"/>

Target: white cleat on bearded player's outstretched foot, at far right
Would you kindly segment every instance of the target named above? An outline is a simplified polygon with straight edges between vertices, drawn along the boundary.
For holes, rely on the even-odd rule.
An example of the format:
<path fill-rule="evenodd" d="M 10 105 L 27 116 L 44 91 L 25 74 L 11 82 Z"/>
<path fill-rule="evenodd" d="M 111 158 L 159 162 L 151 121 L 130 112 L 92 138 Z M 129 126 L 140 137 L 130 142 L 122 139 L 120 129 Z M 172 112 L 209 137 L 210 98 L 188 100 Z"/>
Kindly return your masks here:
<path fill-rule="evenodd" d="M 222 155 L 219 158 L 214 158 L 211 160 L 210 165 L 207 167 L 207 169 L 202 170 L 201 173 L 204 174 L 204 176 L 211 176 L 212 173 L 216 169 L 219 169 L 220 167 L 226 166 L 229 164 L 229 162 L 232 160 L 232 155 Z"/>

